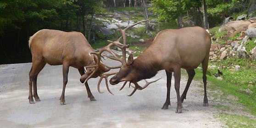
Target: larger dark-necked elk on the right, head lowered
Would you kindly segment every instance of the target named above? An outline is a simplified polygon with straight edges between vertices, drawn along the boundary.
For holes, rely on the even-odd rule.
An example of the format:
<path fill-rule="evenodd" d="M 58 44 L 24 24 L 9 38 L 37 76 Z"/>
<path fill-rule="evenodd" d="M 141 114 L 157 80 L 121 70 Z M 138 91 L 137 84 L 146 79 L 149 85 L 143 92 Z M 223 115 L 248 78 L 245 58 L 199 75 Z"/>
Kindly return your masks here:
<path fill-rule="evenodd" d="M 137 89 L 145 89 L 150 83 L 156 82 L 158 79 L 152 82 L 146 81 L 143 87 L 137 83 L 138 81 L 152 78 L 159 70 L 165 70 L 167 75 L 167 98 L 162 109 L 168 109 L 168 106 L 170 105 L 171 79 L 172 73 L 174 73 L 174 87 L 177 94 L 176 113 L 181 113 L 182 102 L 186 99 L 189 85 L 195 76 L 194 69 L 201 63 L 204 83 L 203 106 L 208 106 L 206 95 L 206 70 L 209 60 L 210 46 L 210 34 L 203 28 L 187 27 L 162 30 L 156 35 L 152 44 L 136 59 L 130 54 L 127 63 L 122 66 L 117 75 L 110 79 L 110 83 L 115 85 L 124 81 L 121 89 L 128 81 L 130 84 L 133 83 L 135 85 L 134 91 L 128 95 L 131 96 Z M 187 71 L 189 78 L 184 93 L 180 97 L 181 68 L 184 68 Z"/>

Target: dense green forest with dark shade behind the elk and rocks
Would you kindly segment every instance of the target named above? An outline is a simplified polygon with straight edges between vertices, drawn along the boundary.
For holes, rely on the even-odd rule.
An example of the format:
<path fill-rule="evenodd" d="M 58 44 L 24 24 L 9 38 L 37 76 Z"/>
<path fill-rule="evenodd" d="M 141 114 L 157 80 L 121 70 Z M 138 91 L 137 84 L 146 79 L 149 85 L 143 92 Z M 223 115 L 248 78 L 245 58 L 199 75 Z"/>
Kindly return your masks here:
<path fill-rule="evenodd" d="M 141 10 L 144 19 L 173 22 L 178 28 L 187 19 L 211 28 L 234 13 L 253 14 L 255 5 L 256 0 L 1 0 L 0 64 L 29 62 L 28 39 L 43 28 L 82 32 L 94 42 L 95 16 L 115 9 Z"/>

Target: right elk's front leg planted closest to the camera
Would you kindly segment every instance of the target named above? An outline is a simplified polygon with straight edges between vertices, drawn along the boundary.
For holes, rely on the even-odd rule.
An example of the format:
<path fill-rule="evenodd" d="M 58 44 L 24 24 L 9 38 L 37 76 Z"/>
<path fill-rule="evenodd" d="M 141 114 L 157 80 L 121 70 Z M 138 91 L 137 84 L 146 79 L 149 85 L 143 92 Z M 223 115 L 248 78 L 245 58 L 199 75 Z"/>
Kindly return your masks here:
<path fill-rule="evenodd" d="M 176 113 L 181 113 L 182 112 L 182 103 L 180 100 L 180 95 L 179 95 L 179 86 L 180 86 L 180 68 L 174 69 L 174 88 L 176 90 L 177 94 L 177 108 L 176 108 Z"/>

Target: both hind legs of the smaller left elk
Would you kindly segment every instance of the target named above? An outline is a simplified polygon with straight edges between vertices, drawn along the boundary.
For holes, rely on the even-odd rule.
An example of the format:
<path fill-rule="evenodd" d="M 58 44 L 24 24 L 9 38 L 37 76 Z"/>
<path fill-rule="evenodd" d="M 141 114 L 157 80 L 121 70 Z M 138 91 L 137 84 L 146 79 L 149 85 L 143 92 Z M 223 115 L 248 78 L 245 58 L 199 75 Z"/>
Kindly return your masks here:
<path fill-rule="evenodd" d="M 33 82 L 33 93 L 36 101 L 40 101 L 37 95 L 37 76 L 38 73 L 45 67 L 46 62 L 43 59 L 34 59 L 32 60 L 32 67 L 29 71 L 29 95 L 28 100 L 30 104 L 34 104 L 33 95 L 32 95 L 32 82 Z"/>

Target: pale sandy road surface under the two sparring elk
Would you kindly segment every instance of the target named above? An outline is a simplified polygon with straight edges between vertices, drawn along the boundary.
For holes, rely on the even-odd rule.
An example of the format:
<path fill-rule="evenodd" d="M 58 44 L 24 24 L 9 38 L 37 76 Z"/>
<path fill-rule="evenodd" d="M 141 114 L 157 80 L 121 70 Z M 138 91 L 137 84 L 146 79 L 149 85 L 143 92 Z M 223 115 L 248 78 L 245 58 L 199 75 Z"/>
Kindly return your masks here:
<path fill-rule="evenodd" d="M 112 64 L 112 61 L 106 61 Z M 41 99 L 28 103 L 28 72 L 31 63 L 0 65 L 0 127 L 1 128 L 221 128 L 213 115 L 217 112 L 209 101 L 203 107 L 203 89 L 193 81 L 183 103 L 183 113 L 177 114 L 176 92 L 171 87 L 171 106 L 161 110 L 166 100 L 166 74 L 160 71 L 152 80 L 161 78 L 144 90 L 132 92 L 128 85 L 119 91 L 122 83 L 110 85 L 108 93 L 104 82 L 100 94 L 97 78 L 89 80 L 97 101 L 90 101 L 79 73 L 70 67 L 65 93 L 66 104 L 61 106 L 62 66 L 46 65 L 39 73 L 38 94 Z M 150 81 L 150 80 L 149 80 Z M 182 93 L 187 79 L 182 77 Z M 211 97 L 208 97 L 210 99 Z"/>

